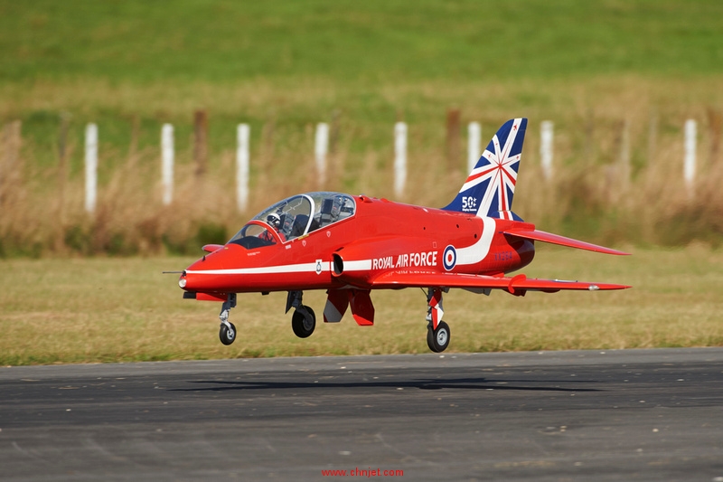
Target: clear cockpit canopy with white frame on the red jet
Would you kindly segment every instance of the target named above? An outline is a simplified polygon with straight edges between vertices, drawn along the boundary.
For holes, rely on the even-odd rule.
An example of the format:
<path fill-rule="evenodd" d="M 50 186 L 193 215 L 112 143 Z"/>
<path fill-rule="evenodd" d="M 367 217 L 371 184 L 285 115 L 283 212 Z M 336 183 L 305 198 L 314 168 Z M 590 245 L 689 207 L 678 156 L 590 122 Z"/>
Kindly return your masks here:
<path fill-rule="evenodd" d="M 349 194 L 297 194 L 258 213 L 229 242 L 250 250 L 276 244 L 277 236 L 291 241 L 342 221 L 355 211 L 356 203 Z M 272 229 L 277 235 L 269 231 Z"/>

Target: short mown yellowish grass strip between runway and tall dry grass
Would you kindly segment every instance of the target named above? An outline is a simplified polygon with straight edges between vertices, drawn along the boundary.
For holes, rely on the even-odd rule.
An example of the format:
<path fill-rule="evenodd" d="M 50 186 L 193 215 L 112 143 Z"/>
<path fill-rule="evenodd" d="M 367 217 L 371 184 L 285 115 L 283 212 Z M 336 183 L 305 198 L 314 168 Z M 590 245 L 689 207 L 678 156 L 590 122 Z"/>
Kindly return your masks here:
<path fill-rule="evenodd" d="M 633 250 L 610 257 L 540 247 L 525 273 L 631 284 L 597 293 L 446 295 L 448 353 L 723 345 L 723 253 Z M 286 295 L 239 295 L 233 345 L 218 339 L 220 304 L 183 300 L 175 275 L 190 258 L 0 260 L 0 364 L 130 362 L 279 355 L 427 353 L 426 298 L 375 291 L 376 325 L 291 331 Z M 305 302 L 319 316 L 323 292 Z"/>

